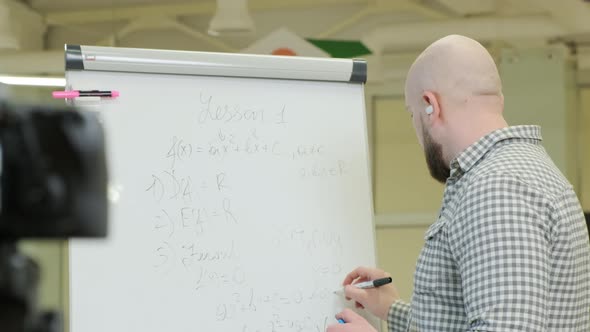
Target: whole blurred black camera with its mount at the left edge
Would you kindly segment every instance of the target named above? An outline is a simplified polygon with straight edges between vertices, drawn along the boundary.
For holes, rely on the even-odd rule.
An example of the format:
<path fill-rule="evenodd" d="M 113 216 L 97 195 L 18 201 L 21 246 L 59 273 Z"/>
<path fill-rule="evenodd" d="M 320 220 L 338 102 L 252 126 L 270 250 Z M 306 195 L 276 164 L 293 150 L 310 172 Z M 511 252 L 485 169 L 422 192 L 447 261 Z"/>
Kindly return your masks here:
<path fill-rule="evenodd" d="M 23 238 L 104 237 L 107 167 L 96 114 L 0 100 L 0 331 L 57 332 L 36 308 L 37 264 Z"/>

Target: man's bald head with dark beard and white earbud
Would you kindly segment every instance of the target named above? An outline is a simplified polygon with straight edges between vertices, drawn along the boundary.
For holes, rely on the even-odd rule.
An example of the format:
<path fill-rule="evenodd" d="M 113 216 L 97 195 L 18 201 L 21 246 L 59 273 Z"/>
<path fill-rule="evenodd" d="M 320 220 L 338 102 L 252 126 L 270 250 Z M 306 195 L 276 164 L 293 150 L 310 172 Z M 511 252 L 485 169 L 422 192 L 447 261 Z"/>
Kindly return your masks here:
<path fill-rule="evenodd" d="M 494 59 L 467 37 L 447 36 L 426 48 L 408 72 L 405 95 L 430 174 L 443 183 L 453 158 L 507 126 Z"/>

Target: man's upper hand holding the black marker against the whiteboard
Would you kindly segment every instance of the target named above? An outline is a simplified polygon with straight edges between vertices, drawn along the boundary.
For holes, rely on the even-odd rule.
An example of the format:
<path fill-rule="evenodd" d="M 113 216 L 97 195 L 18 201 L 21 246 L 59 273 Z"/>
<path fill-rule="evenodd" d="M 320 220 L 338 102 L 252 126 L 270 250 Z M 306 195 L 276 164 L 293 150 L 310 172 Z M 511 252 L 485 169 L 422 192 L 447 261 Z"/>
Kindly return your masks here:
<path fill-rule="evenodd" d="M 352 286 L 359 282 L 384 277 L 389 277 L 389 274 L 379 269 L 368 267 L 354 269 L 342 282 L 346 299 L 354 300 L 357 308 L 365 308 L 382 320 L 387 320 L 389 307 L 399 299 L 399 294 L 393 284 L 369 289 L 359 289 Z"/>

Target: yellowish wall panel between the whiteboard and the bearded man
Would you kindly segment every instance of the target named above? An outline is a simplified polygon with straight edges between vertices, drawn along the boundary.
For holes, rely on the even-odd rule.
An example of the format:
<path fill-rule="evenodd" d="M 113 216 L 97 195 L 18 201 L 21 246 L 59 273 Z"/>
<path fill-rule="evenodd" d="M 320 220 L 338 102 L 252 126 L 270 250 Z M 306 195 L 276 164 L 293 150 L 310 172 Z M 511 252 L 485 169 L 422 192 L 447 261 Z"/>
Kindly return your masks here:
<path fill-rule="evenodd" d="M 376 97 L 374 106 L 373 191 L 381 221 L 376 232 L 378 262 L 391 273 L 400 295 L 409 300 L 413 267 L 426 225 L 436 217 L 443 186 L 430 178 L 403 97 Z M 410 225 L 409 220 L 418 225 Z"/>

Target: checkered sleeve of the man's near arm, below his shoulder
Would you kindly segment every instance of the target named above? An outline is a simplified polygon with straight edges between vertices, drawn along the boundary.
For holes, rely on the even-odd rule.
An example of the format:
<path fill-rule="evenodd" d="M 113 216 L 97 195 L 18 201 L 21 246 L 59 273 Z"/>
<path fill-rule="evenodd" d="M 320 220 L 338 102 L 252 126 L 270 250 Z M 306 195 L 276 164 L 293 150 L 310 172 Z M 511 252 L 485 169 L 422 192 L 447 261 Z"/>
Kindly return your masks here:
<path fill-rule="evenodd" d="M 449 234 L 469 331 L 545 331 L 550 202 L 510 175 L 475 182 Z"/>

